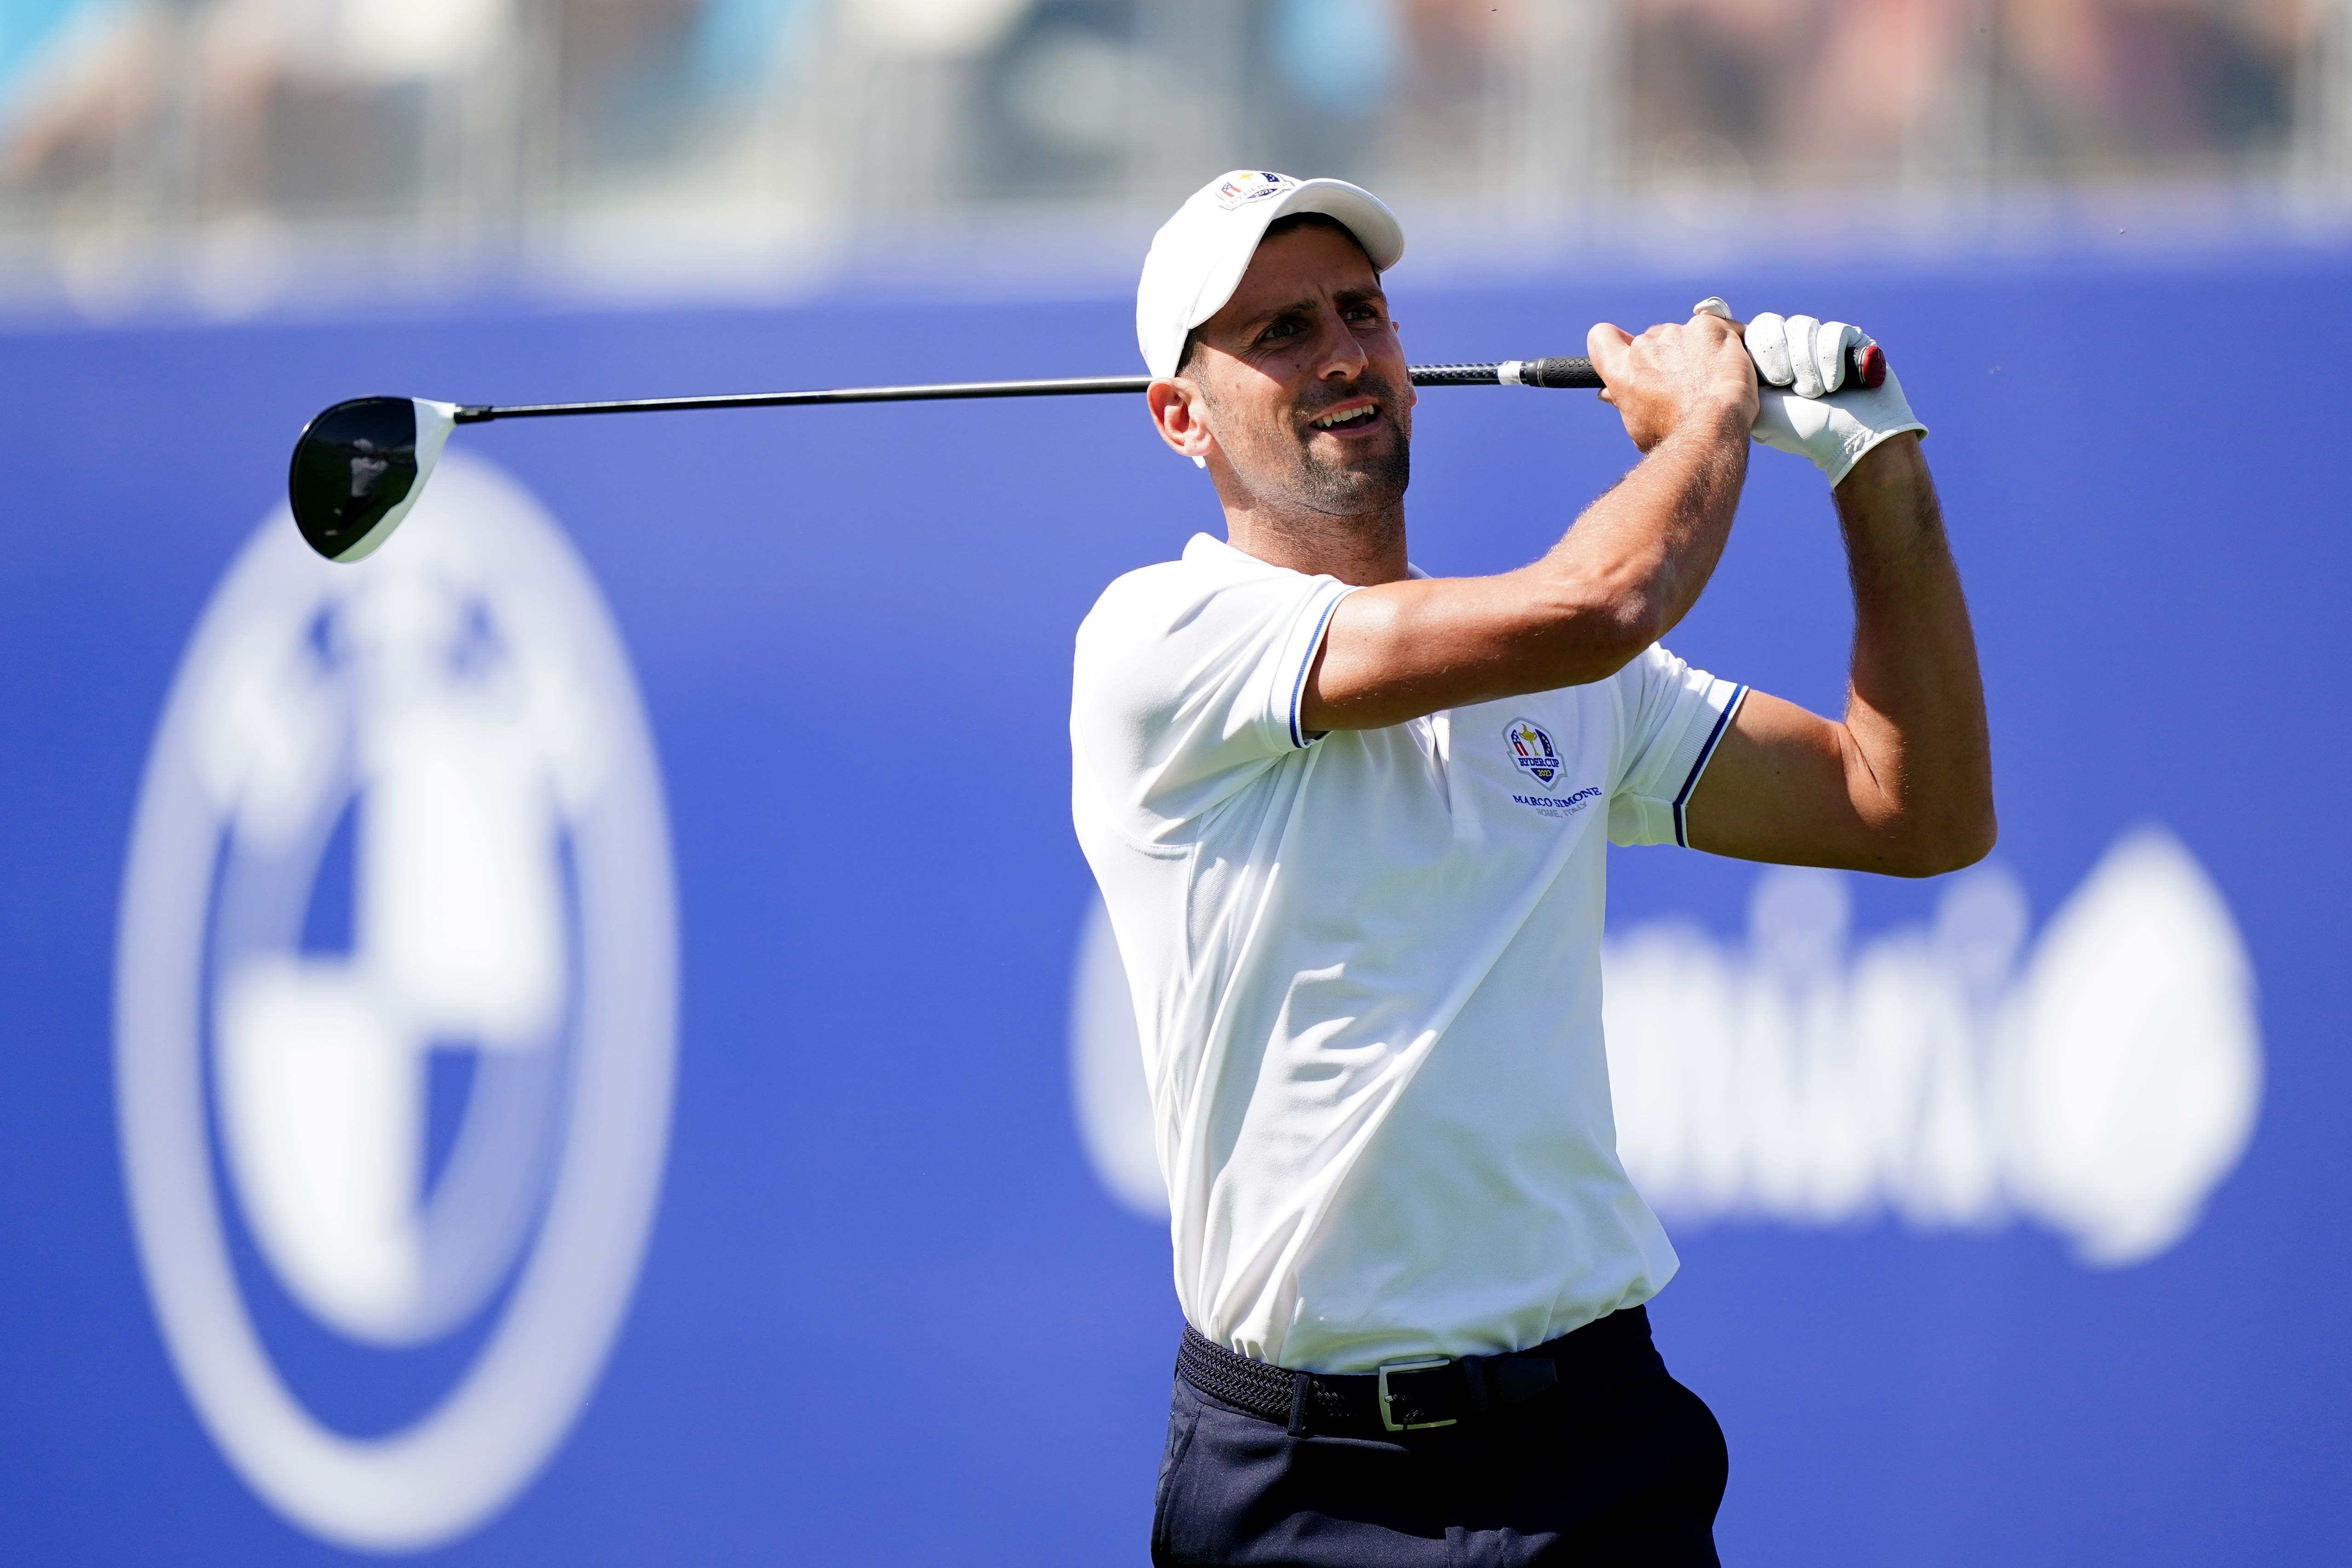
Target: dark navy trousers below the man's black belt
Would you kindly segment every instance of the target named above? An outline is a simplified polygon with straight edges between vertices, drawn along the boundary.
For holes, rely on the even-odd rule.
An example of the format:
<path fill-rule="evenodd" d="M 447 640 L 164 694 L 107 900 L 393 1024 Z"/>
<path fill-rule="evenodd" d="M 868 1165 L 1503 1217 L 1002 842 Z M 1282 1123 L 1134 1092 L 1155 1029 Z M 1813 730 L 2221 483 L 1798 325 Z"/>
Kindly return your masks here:
<path fill-rule="evenodd" d="M 1477 1427 L 1289 1436 L 1181 1375 L 1152 1507 L 1162 1568 L 1717 1568 L 1715 1413 L 1639 1356 Z"/>

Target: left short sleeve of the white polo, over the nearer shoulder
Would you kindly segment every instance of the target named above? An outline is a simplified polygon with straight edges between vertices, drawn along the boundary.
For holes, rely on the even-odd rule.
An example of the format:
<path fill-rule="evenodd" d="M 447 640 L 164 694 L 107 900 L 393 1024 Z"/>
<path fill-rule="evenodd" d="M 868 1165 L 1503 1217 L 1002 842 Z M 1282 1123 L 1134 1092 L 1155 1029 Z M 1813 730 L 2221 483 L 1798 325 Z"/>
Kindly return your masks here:
<path fill-rule="evenodd" d="M 1202 550 L 1214 545 L 1214 550 Z M 1225 559 L 1225 557 L 1235 559 Z M 1112 583 L 1077 630 L 1070 745 L 1080 788 L 1150 837 L 1312 745 L 1298 705 L 1352 588 L 1195 541 Z"/>

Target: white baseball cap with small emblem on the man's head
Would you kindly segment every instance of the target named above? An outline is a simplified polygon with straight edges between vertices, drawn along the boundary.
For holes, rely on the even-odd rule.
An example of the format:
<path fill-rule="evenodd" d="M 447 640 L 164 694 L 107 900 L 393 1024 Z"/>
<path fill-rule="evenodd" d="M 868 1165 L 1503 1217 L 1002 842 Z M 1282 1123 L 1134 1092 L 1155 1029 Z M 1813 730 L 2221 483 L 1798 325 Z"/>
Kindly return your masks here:
<path fill-rule="evenodd" d="M 1291 179 L 1270 169 L 1232 169 L 1195 190 L 1152 235 L 1136 284 L 1136 343 L 1152 376 L 1174 376 L 1185 336 L 1225 308 L 1258 252 L 1265 226 L 1296 212 L 1322 212 L 1348 226 L 1378 273 L 1404 256 L 1397 214 L 1371 190 L 1343 179 Z"/>

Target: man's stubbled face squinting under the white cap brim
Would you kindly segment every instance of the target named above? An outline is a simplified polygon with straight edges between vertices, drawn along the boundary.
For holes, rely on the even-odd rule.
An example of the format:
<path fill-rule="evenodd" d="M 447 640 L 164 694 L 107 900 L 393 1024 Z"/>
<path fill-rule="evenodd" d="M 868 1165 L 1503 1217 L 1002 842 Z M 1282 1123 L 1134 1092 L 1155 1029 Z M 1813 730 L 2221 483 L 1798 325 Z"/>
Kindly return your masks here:
<path fill-rule="evenodd" d="M 1254 496 L 1334 517 L 1404 496 L 1414 383 L 1381 275 L 1348 233 L 1315 223 L 1261 244 L 1183 376 Z"/>

